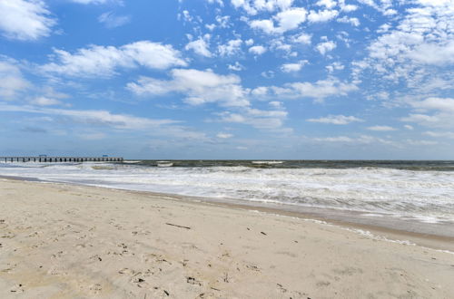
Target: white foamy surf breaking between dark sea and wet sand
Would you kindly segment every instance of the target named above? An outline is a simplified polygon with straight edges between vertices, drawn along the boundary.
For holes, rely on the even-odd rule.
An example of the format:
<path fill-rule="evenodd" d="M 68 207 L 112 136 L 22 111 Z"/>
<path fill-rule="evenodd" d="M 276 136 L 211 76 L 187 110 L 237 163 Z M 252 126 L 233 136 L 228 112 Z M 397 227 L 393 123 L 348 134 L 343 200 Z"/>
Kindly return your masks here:
<path fill-rule="evenodd" d="M 175 163 L 175 161 L 161 161 Z M 20 164 L 20 163 L 19 163 Z M 454 172 L 361 167 L 162 167 L 141 163 L 4 164 L 0 174 L 102 187 L 328 207 L 419 222 L 454 221 Z"/>

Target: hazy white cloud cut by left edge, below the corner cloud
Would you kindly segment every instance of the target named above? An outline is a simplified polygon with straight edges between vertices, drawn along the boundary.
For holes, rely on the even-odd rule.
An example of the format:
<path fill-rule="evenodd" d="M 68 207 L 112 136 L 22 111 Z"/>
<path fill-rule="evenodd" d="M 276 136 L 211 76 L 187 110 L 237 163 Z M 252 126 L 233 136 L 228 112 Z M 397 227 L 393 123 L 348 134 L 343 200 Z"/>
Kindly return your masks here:
<path fill-rule="evenodd" d="M 30 86 L 14 63 L 0 61 L 0 78 L 0 100 L 13 100 Z"/>

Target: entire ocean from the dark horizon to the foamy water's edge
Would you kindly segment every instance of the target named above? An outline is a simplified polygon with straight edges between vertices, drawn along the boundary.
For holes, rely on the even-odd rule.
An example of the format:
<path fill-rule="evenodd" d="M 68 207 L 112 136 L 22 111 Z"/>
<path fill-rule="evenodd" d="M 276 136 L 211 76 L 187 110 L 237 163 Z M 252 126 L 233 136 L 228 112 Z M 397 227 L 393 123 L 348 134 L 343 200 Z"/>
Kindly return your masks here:
<path fill-rule="evenodd" d="M 0 176 L 175 194 L 454 236 L 454 161 L 1 162 Z"/>

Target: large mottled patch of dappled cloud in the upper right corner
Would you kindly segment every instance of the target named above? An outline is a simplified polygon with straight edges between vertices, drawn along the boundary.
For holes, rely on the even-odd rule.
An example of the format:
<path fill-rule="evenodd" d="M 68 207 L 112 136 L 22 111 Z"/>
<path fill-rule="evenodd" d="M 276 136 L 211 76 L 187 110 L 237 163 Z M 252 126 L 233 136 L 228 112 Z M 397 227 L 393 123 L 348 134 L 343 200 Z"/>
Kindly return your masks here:
<path fill-rule="evenodd" d="M 429 89 L 429 83 L 452 78 L 453 7 L 451 0 L 411 2 L 398 24 L 380 26 L 380 35 L 368 47 L 369 56 L 355 64 L 353 73 L 359 77 L 371 71 L 383 80 L 405 83 L 421 93 L 438 91 L 438 87 Z"/>

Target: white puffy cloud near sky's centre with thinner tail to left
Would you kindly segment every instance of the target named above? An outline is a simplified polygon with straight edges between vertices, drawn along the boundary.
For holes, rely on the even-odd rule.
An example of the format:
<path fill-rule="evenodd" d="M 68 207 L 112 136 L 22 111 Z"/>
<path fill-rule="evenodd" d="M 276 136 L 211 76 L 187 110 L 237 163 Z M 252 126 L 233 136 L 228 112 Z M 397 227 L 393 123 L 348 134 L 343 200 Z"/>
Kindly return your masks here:
<path fill-rule="evenodd" d="M 242 88 L 240 77 L 219 75 L 212 70 L 171 71 L 169 81 L 141 77 L 138 82 L 127 84 L 127 88 L 138 95 L 163 95 L 179 92 L 185 95 L 184 101 L 191 105 L 219 102 L 223 106 L 248 106 L 247 91 Z"/>

